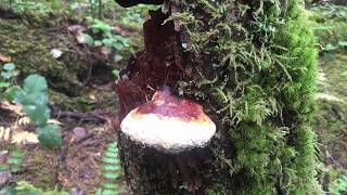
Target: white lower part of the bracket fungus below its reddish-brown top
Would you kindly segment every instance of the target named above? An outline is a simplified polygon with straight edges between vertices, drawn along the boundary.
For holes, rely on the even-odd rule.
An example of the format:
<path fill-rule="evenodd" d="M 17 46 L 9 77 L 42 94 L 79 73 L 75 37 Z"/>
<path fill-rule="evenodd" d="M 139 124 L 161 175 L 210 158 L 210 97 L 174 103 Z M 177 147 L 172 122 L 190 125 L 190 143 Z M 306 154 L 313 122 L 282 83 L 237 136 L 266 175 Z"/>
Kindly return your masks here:
<path fill-rule="evenodd" d="M 168 107 L 172 105 L 171 102 L 162 102 L 162 104 L 168 104 Z M 203 113 L 202 107 L 198 110 L 198 118 L 189 120 L 157 113 L 142 114 L 138 109 L 131 110 L 121 121 L 121 131 L 132 141 L 153 146 L 162 152 L 180 153 L 203 147 L 216 132 L 216 125 Z"/>

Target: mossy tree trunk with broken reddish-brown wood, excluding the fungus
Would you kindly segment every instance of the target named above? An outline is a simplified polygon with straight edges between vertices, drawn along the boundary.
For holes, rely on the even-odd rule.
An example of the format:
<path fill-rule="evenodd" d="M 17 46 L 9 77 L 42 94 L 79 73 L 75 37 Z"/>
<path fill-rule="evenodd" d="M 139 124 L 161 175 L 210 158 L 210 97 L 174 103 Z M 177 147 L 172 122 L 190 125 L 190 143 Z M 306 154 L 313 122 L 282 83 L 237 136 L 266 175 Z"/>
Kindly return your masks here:
<path fill-rule="evenodd" d="M 202 155 L 187 158 L 192 164 L 184 170 L 175 156 L 151 156 L 119 132 L 133 192 L 321 193 L 310 128 L 317 51 L 300 1 L 174 0 L 168 6 L 167 14 L 151 13 L 145 51 L 120 75 L 120 116 L 168 86 L 204 105 L 218 133 Z"/>

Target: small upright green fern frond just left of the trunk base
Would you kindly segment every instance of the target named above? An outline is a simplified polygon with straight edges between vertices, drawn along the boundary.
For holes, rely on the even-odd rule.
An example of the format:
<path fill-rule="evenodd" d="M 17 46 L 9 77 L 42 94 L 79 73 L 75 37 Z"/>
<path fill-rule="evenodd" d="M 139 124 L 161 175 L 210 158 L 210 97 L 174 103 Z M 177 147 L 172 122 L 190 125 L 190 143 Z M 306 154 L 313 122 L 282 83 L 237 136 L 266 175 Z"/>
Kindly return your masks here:
<path fill-rule="evenodd" d="M 119 194 L 117 180 L 120 177 L 120 160 L 117 143 L 110 143 L 103 157 L 104 184 L 97 191 L 97 195 Z"/>

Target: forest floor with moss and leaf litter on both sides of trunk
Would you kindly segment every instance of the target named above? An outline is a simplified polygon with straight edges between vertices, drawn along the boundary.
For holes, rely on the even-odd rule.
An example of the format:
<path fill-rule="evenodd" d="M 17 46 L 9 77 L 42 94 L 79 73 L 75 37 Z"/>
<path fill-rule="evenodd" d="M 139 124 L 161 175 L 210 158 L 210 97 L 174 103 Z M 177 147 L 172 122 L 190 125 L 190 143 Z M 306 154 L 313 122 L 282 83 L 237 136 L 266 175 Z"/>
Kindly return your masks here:
<path fill-rule="evenodd" d="M 313 13 L 321 11 L 313 10 Z M 48 79 L 52 119 L 61 123 L 64 135 L 63 147 L 56 151 L 28 143 L 31 136 L 25 132 L 34 132 L 34 127 L 20 112 L 21 107 L 2 103 L 0 165 L 7 164 L 13 152 L 23 153 L 24 160 L 20 171 L 11 177 L 4 177 L 0 170 L 0 188 L 4 183 L 24 180 L 43 190 L 62 188 L 88 194 L 103 184 L 103 154 L 106 145 L 117 139 L 114 127 L 118 122 L 118 106 L 112 72 L 125 64 L 130 53 L 142 46 L 140 26 L 143 20 L 140 17 L 143 14 L 140 12 L 143 13 L 143 10 L 128 10 L 118 13 L 118 16 L 110 16 L 115 21 L 112 26 L 115 34 L 129 39 L 131 49 L 105 54 L 102 47 L 86 47 L 78 42 L 73 27 L 92 31 L 80 16 L 70 17 L 62 13 L 18 15 L 0 9 L 0 65 L 4 60 L 1 56 L 11 57 L 21 70 L 17 82 L 33 73 Z M 132 23 L 125 25 L 127 22 L 119 17 L 129 14 L 137 14 L 137 17 L 128 18 Z M 330 183 L 347 174 L 347 48 L 344 44 L 329 48 L 329 44 L 347 40 L 340 35 L 347 30 L 347 18 L 336 20 L 336 15 L 322 18 L 313 14 L 312 21 L 318 22 L 316 35 L 323 48 L 313 128 L 321 151 L 319 158 L 323 162 L 319 177 L 329 191 Z M 326 26 L 330 27 L 324 30 Z M 101 34 L 93 36 L 94 39 L 103 37 Z M 335 37 L 336 40 L 326 37 Z M 62 51 L 62 56 L 53 57 L 53 49 Z M 9 129 L 11 133 L 5 136 Z M 25 140 L 27 143 L 23 144 Z M 123 180 L 119 183 L 126 194 Z"/>

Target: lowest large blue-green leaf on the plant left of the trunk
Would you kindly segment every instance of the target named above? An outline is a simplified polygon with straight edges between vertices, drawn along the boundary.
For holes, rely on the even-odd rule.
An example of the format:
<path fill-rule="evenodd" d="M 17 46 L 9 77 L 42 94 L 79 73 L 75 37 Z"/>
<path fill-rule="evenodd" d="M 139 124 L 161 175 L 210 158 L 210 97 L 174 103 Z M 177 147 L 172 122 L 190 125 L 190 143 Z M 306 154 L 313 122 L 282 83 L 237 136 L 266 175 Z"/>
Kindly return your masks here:
<path fill-rule="evenodd" d="M 37 128 L 38 139 L 43 146 L 49 148 L 56 148 L 62 146 L 63 138 L 59 131 L 59 126 L 48 125 L 43 128 Z"/>

